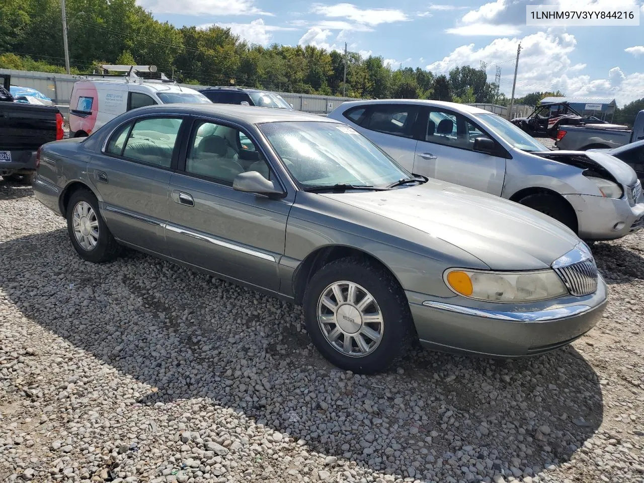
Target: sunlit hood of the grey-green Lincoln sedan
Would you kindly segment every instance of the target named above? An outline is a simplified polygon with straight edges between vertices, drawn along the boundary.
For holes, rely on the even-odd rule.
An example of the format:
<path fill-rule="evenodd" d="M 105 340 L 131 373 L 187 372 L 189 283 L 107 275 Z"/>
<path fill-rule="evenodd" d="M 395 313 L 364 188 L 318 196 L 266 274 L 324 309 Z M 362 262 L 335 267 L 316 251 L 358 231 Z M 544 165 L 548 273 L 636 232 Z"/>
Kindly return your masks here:
<path fill-rule="evenodd" d="M 391 191 L 323 196 L 426 232 L 492 270 L 544 269 L 579 243 L 572 231 L 544 214 L 439 180 Z"/>

